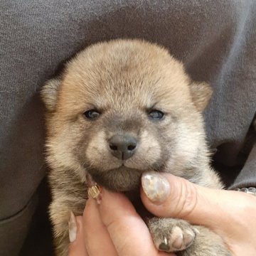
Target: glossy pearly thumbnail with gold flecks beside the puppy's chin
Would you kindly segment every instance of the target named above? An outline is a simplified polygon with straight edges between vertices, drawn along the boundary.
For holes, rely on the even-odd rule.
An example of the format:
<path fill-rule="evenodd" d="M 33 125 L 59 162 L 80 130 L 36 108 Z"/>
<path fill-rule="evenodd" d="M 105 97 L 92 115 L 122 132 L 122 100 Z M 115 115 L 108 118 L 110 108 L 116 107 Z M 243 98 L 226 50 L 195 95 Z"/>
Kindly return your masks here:
<path fill-rule="evenodd" d="M 164 202 L 170 192 L 170 185 L 167 179 L 154 171 L 142 174 L 142 188 L 153 203 Z"/>

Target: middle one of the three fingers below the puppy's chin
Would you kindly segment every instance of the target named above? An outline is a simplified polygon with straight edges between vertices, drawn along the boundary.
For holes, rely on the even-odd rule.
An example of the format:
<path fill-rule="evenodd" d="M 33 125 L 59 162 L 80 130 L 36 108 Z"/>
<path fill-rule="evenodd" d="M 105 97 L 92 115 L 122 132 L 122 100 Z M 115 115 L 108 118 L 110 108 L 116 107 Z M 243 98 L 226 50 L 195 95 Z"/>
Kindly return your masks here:
<path fill-rule="evenodd" d="M 85 247 L 90 256 L 114 256 L 114 248 L 110 234 L 102 223 L 97 203 L 89 198 L 83 214 Z"/>

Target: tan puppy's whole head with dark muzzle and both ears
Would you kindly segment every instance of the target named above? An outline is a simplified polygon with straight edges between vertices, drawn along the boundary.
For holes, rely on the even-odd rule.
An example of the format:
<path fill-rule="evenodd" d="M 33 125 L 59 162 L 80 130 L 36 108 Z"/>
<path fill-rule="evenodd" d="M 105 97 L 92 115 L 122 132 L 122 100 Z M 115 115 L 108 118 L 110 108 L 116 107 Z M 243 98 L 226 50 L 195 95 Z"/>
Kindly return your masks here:
<path fill-rule="evenodd" d="M 196 168 L 204 144 L 206 84 L 192 83 L 159 46 L 91 46 L 43 88 L 48 163 L 114 191 L 139 187 L 144 171 L 179 176 Z"/>

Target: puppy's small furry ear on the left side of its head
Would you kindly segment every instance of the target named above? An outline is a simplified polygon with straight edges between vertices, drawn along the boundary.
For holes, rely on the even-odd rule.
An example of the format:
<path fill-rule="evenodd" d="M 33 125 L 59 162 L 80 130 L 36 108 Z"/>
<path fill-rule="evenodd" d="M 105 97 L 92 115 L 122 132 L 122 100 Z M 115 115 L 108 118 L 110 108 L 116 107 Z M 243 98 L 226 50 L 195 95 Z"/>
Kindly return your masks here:
<path fill-rule="evenodd" d="M 58 88 L 60 87 L 60 78 L 53 78 L 48 80 L 41 90 L 41 97 L 48 112 L 55 110 L 57 102 Z"/>

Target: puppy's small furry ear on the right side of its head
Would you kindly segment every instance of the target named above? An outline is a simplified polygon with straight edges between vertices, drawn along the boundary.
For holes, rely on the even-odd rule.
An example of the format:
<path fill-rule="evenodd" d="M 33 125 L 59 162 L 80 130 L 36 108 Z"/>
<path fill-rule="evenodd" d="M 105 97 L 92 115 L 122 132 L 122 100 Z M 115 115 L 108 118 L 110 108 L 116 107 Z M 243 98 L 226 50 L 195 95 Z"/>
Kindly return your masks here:
<path fill-rule="evenodd" d="M 207 82 L 191 82 L 190 90 L 194 105 L 196 105 L 198 111 L 203 112 L 208 105 L 213 90 Z"/>

